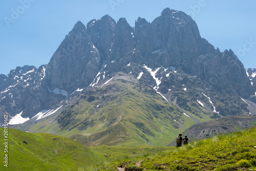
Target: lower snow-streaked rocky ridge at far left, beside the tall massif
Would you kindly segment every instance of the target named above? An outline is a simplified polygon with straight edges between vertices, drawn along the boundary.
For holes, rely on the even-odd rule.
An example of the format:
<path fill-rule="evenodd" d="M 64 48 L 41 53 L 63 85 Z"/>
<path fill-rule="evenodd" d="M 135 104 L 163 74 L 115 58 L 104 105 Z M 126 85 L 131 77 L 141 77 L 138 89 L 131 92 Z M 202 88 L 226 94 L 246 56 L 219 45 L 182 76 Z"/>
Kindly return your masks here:
<path fill-rule="evenodd" d="M 53 95 L 44 87 L 46 65 L 36 69 L 33 66 L 17 67 L 1 82 L 0 94 L 1 117 L 4 114 L 15 116 L 23 112 L 24 118 L 31 118 L 35 113 L 51 108 L 62 96 Z"/>

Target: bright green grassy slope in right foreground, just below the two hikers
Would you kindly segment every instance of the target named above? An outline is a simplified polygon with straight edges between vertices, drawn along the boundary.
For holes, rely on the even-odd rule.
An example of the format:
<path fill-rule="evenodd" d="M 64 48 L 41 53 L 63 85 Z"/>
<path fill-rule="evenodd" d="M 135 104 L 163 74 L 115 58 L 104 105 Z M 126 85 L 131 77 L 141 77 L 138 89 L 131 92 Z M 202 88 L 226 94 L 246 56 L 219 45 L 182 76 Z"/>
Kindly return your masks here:
<path fill-rule="evenodd" d="M 191 143 L 142 162 L 150 169 L 158 165 L 166 170 L 256 169 L 256 128 Z"/>

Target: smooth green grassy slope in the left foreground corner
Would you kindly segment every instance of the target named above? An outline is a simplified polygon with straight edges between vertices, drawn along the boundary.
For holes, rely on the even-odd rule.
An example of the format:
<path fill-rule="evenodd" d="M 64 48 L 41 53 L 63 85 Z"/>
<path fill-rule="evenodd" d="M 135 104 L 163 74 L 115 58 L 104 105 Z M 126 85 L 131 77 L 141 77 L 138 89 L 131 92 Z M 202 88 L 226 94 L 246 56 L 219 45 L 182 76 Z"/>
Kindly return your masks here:
<path fill-rule="evenodd" d="M 3 129 L 0 131 L 1 137 L 4 137 Z M 8 133 L 9 164 L 8 168 L 1 164 L 0 170 L 76 170 L 106 160 L 106 157 L 87 146 L 65 137 L 15 129 L 9 129 Z M 4 149 L 2 141 L 0 147 Z M 4 156 L 4 150 L 0 154 Z"/>

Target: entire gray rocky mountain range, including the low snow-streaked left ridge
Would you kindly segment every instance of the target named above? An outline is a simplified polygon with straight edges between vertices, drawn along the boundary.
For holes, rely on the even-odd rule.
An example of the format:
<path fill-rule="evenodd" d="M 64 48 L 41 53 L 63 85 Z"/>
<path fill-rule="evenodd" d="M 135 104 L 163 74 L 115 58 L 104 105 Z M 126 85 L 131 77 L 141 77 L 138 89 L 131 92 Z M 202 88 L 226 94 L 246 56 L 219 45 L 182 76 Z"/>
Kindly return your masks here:
<path fill-rule="evenodd" d="M 132 69 L 127 67 L 129 63 Z M 157 87 L 152 75 L 145 74 L 144 65 L 151 69 L 163 67 L 156 75 L 162 81 Z M 171 68 L 176 68 L 178 74 Z M 26 74 L 33 69 L 31 74 Z M 201 38 L 197 24 L 190 16 L 169 8 L 164 9 L 152 23 L 139 17 L 134 28 L 125 18 L 116 23 L 109 15 L 93 19 L 86 26 L 77 22 L 47 66 L 38 69 L 25 66 L 22 72 L 19 71 L 17 68 L 8 76 L 0 75 L 1 115 L 15 116 L 24 111 L 22 116 L 31 118 L 41 110 L 49 110 L 78 88 L 91 88 L 92 83 L 103 81 L 117 72 L 125 72 L 135 78 L 143 72 L 140 81 L 154 90 L 158 89 L 168 97 L 167 101 L 174 103 L 185 84 L 198 88 L 195 94 L 202 98 L 205 97 L 200 91 L 213 88 L 222 94 L 222 104 L 232 96 L 249 98 L 256 90 L 256 83 L 253 87 L 251 85 L 255 78 L 249 80 L 243 64 L 231 50 L 216 50 Z M 176 92 L 169 93 L 171 89 Z M 189 94 L 194 101 L 195 94 Z M 254 99 L 251 97 L 255 102 Z M 178 100 L 183 105 L 181 101 Z M 208 105 L 207 110 L 214 111 L 211 104 Z M 185 103 L 184 108 L 189 109 Z M 242 108 L 246 111 L 246 107 Z M 216 106 L 216 109 L 223 116 L 228 115 L 224 105 Z M 237 111 L 241 112 L 240 109 Z"/>

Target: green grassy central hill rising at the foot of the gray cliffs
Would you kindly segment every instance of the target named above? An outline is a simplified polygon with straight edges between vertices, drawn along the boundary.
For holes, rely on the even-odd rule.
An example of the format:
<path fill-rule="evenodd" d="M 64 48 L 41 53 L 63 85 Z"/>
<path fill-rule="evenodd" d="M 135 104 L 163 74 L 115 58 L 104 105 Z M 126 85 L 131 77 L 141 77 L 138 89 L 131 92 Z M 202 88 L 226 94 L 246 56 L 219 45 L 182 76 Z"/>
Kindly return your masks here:
<path fill-rule="evenodd" d="M 81 133 L 83 135 L 74 135 L 70 138 L 88 146 L 167 145 L 179 131 L 183 131 L 177 130 L 179 127 L 186 129 L 196 123 L 174 104 L 166 102 L 146 86 L 122 80 L 116 81 L 116 84 L 108 89 L 115 91 L 107 92 L 106 97 L 101 97 L 106 89 L 100 89 L 94 93 L 95 101 L 80 99 L 76 105 L 67 109 L 59 118 L 63 123 L 62 133 L 65 132 L 60 135 L 66 136 L 72 129 L 84 130 Z M 113 100 L 103 104 L 96 111 L 96 106 L 102 103 L 101 98 Z M 84 118 L 88 120 L 85 121 Z"/>

